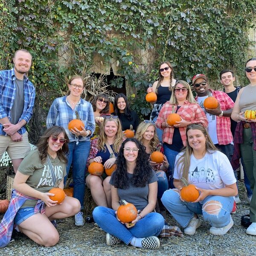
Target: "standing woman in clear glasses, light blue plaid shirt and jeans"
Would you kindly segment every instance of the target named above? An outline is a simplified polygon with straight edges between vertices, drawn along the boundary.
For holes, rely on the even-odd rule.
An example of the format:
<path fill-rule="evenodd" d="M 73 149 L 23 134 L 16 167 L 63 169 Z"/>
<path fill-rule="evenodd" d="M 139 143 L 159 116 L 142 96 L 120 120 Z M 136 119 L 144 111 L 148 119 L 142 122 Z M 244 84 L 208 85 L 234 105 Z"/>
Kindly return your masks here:
<path fill-rule="evenodd" d="M 90 135 L 95 130 L 95 122 L 92 105 L 81 98 L 84 90 L 84 80 L 81 76 L 72 76 L 68 87 L 70 94 L 57 98 L 52 102 L 47 116 L 47 128 L 53 125 L 62 126 L 70 142 L 68 143 L 69 154 L 67 160 L 67 176 L 72 164 L 72 174 L 74 181 L 74 198 L 80 201 L 81 209 L 84 208 L 85 191 L 85 169 L 87 158 L 90 152 Z M 68 129 L 68 123 L 76 119 L 76 112 L 84 123 L 84 127 L 79 131 L 77 128 Z M 67 177 L 66 176 L 66 177 Z M 84 225 L 82 212 L 75 215 L 76 226 Z"/>

